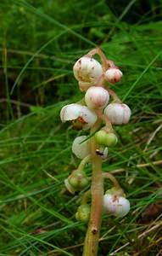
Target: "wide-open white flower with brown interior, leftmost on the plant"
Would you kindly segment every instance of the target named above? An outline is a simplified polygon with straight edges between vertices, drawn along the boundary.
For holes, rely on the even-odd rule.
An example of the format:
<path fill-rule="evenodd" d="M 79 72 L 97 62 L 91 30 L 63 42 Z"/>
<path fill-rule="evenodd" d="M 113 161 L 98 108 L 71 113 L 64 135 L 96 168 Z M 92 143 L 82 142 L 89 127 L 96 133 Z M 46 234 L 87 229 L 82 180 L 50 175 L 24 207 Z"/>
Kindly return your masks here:
<path fill-rule="evenodd" d="M 77 103 L 64 106 L 60 118 L 62 122 L 77 120 L 85 130 L 91 128 L 98 119 L 96 113 Z"/>

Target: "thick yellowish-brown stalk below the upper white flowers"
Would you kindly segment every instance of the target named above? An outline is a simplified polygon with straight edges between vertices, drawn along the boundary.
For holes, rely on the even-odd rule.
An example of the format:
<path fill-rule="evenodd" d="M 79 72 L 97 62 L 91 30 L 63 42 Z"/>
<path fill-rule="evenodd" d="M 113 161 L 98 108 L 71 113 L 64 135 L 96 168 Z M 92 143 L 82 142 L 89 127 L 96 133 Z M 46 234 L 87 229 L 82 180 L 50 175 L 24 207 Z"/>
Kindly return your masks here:
<path fill-rule="evenodd" d="M 92 127 L 91 133 L 98 130 L 98 122 Z M 103 175 L 102 160 L 96 154 L 97 145 L 94 137 L 91 138 L 92 154 L 92 207 L 91 215 L 87 228 L 82 256 L 97 256 L 99 232 L 102 223 L 103 212 Z"/>

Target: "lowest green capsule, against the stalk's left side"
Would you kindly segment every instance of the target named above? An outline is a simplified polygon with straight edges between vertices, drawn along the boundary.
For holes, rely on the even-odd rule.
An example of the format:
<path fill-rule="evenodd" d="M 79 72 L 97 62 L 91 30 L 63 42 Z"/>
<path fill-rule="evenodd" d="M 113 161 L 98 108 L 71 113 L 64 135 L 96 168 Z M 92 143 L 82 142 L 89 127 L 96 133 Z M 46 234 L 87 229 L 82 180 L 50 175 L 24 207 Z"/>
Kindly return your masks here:
<path fill-rule="evenodd" d="M 90 217 L 90 210 L 91 209 L 88 204 L 83 204 L 78 207 L 78 210 L 75 213 L 76 220 L 87 223 Z"/>

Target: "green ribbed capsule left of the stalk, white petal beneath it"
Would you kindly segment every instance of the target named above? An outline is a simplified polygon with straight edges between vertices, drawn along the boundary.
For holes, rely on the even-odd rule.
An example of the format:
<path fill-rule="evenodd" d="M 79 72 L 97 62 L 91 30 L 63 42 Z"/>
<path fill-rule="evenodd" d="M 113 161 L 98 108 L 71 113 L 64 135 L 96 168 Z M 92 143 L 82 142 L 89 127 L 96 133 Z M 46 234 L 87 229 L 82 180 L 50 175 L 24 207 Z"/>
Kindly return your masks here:
<path fill-rule="evenodd" d="M 80 170 L 75 170 L 72 172 L 68 177 L 68 181 L 75 190 L 84 189 L 88 184 L 86 174 Z"/>

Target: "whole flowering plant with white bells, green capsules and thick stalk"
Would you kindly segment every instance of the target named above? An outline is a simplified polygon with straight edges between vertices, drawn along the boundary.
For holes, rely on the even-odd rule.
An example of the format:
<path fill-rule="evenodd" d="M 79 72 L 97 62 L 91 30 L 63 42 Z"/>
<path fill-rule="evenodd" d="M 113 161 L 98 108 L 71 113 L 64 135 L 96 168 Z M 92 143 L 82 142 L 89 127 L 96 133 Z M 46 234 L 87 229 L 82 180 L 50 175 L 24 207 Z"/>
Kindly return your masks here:
<path fill-rule="evenodd" d="M 94 55 L 99 55 L 101 63 L 94 59 Z M 115 84 L 120 81 L 123 74 L 113 61 L 106 58 L 101 49 L 92 49 L 76 61 L 74 75 L 85 96 L 81 102 L 64 106 L 60 118 L 62 122 L 72 122 L 77 129 L 91 131 L 90 136 L 75 138 L 72 152 L 81 159 L 81 163 L 64 183 L 71 194 L 87 188 L 89 179 L 84 167 L 87 163 L 92 164 L 91 188 L 83 195 L 75 218 L 88 223 L 83 256 L 96 256 L 102 212 L 122 218 L 130 210 L 130 202 L 116 178 L 109 172 L 102 172 L 102 162 L 107 159 L 109 148 L 118 143 L 113 125 L 128 123 L 131 110 L 120 101 L 114 90 L 106 87 L 106 82 Z M 112 189 L 107 190 L 105 195 L 104 178 L 109 178 L 113 183 Z M 91 205 L 88 203 L 89 198 Z"/>

